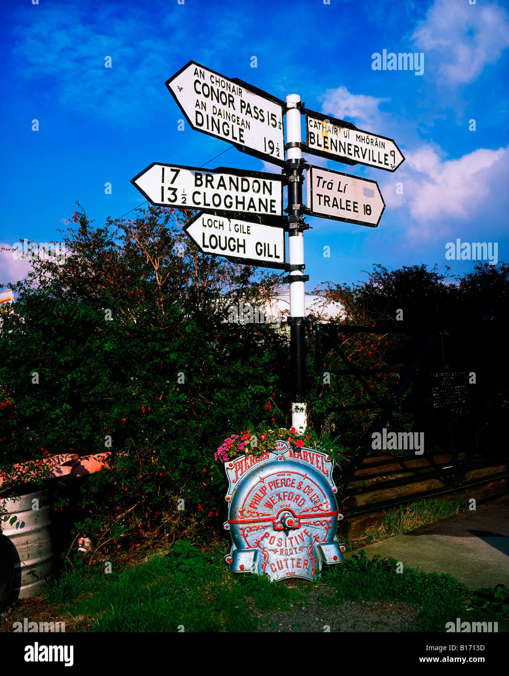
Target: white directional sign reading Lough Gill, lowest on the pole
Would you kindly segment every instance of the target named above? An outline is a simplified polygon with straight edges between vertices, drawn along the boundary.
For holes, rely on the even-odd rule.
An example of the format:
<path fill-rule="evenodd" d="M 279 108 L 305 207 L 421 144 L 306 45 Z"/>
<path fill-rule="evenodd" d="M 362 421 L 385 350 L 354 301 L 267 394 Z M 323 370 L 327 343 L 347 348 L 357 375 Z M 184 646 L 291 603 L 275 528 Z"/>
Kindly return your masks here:
<path fill-rule="evenodd" d="M 184 230 L 204 254 L 224 256 L 234 263 L 286 269 L 283 223 L 263 223 L 263 218 L 227 218 L 200 212 Z"/>

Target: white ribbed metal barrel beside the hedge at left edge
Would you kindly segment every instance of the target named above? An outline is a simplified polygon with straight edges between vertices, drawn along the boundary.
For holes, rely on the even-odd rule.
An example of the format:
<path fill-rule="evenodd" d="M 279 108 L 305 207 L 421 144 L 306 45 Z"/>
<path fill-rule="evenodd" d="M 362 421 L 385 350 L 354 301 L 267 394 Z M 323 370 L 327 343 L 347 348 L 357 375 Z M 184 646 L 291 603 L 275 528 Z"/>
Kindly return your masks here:
<path fill-rule="evenodd" d="M 20 498 L 0 500 L 9 518 L 1 521 L 14 560 L 12 600 L 32 598 L 41 593 L 45 581 L 53 576 L 51 506 L 48 493 L 38 491 Z M 10 523 L 16 516 L 16 521 Z"/>

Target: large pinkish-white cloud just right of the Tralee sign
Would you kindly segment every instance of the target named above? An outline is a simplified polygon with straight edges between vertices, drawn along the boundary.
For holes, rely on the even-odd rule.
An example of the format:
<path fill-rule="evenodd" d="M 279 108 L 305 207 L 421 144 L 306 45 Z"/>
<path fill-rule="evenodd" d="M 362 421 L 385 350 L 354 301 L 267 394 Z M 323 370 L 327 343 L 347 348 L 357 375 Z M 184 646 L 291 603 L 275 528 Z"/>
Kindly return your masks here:
<path fill-rule="evenodd" d="M 387 209 L 406 208 L 405 226 L 412 239 L 437 239 L 462 222 L 466 228 L 497 229 L 506 209 L 504 176 L 509 168 L 509 146 L 480 148 L 456 160 L 446 160 L 431 145 L 407 151 L 398 176 L 379 180 Z M 396 183 L 403 193 L 396 194 Z M 437 222 L 440 228 L 437 228 Z"/>

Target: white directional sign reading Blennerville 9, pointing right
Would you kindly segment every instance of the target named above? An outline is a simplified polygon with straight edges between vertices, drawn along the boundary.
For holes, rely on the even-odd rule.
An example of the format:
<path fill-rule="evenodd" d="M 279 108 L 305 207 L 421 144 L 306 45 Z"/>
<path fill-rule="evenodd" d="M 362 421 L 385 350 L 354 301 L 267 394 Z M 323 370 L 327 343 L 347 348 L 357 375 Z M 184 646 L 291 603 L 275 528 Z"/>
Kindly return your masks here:
<path fill-rule="evenodd" d="M 365 164 L 385 171 L 396 171 L 404 160 L 392 139 L 311 110 L 306 110 L 306 146 L 310 153 L 328 160 Z"/>

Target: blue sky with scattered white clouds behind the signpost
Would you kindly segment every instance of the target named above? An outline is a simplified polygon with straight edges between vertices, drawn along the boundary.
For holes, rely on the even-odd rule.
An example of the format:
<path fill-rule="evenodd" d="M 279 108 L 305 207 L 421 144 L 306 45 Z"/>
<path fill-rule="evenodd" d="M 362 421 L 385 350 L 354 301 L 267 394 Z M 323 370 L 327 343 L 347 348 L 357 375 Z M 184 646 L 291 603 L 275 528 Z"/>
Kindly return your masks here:
<path fill-rule="evenodd" d="M 468 272 L 472 261 L 446 260 L 458 238 L 498 243 L 508 262 L 507 2 L 180 1 L 2 3 L 0 245 L 61 239 L 76 200 L 97 225 L 122 216 L 144 201 L 130 179 L 151 162 L 201 166 L 230 148 L 207 167 L 279 173 L 187 123 L 178 131 L 165 81 L 192 59 L 281 99 L 298 93 L 405 155 L 390 173 L 306 154 L 377 180 L 386 203 L 378 228 L 309 219 L 307 290 L 367 279 L 373 263 Z M 383 49 L 423 53 L 423 74 L 373 70 Z M 27 266 L 1 252 L 0 288 Z"/>

